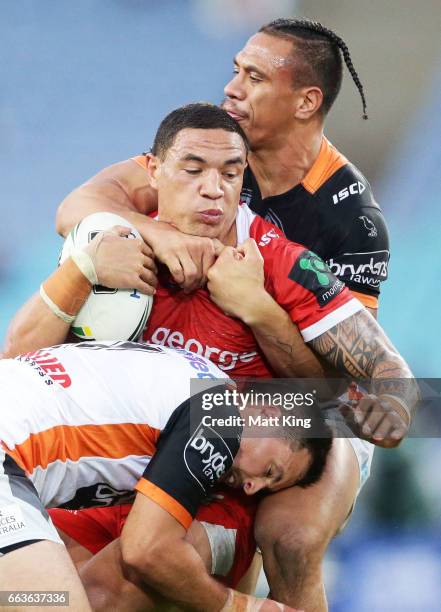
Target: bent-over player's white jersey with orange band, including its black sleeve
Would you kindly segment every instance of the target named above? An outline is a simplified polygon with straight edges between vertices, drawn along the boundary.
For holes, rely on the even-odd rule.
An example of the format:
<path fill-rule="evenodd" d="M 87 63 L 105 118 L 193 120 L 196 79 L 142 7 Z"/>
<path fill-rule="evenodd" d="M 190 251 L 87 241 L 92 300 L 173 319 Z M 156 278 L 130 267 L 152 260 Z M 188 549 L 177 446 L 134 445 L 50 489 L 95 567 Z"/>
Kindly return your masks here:
<path fill-rule="evenodd" d="M 214 385 L 225 375 L 194 353 L 128 342 L 0 362 L 0 484 L 26 474 L 44 507 L 71 509 L 123 503 L 137 489 L 188 527 L 240 438 L 208 444 L 196 402 L 190 420 L 192 377 Z"/>

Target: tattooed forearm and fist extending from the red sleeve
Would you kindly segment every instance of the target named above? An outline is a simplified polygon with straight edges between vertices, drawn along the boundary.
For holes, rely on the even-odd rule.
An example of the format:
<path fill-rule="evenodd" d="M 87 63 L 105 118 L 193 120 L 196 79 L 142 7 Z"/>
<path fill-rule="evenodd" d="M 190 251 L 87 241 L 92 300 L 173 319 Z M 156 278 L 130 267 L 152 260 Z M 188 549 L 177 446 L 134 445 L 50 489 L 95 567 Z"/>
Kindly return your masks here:
<path fill-rule="evenodd" d="M 361 310 L 310 346 L 372 393 L 358 402 L 356 412 L 348 407 L 346 416 L 352 417 L 356 433 L 381 446 L 399 444 L 415 414 L 419 391 L 409 366 L 376 320 Z"/>

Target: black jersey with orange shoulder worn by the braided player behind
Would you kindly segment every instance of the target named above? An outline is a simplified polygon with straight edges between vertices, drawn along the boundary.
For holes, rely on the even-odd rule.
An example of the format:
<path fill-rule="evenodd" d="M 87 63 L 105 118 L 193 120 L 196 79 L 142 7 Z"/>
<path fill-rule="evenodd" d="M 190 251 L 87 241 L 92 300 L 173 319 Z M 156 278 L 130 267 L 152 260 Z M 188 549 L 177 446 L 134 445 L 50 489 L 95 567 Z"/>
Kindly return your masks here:
<path fill-rule="evenodd" d="M 317 253 L 365 306 L 376 308 L 387 279 L 386 223 L 366 178 L 326 138 L 303 181 L 280 195 L 262 199 L 248 166 L 241 200 Z"/>

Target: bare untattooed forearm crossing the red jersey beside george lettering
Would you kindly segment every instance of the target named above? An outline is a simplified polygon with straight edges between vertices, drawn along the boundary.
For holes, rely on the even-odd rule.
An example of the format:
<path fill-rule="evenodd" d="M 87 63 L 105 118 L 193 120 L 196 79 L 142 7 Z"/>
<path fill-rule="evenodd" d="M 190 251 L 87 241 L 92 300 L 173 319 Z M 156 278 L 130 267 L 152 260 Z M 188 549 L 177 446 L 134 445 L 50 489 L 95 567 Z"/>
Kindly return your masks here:
<path fill-rule="evenodd" d="M 255 300 L 243 321 L 246 323 L 279 377 L 322 378 L 320 359 L 305 344 L 289 314 L 266 291 Z"/>

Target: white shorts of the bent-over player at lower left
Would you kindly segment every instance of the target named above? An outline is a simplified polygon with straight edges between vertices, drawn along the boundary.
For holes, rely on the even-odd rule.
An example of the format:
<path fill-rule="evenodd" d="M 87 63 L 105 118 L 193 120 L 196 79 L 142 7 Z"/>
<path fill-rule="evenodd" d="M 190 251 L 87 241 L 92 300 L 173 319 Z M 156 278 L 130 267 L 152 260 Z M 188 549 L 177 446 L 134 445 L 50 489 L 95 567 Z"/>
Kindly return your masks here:
<path fill-rule="evenodd" d="M 38 540 L 63 544 L 34 485 L 0 448 L 0 556 Z"/>

